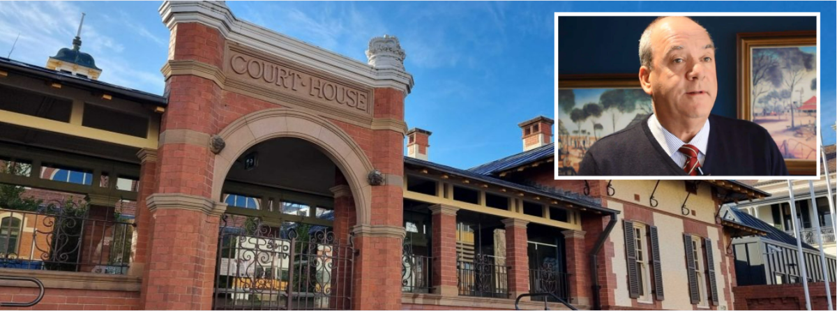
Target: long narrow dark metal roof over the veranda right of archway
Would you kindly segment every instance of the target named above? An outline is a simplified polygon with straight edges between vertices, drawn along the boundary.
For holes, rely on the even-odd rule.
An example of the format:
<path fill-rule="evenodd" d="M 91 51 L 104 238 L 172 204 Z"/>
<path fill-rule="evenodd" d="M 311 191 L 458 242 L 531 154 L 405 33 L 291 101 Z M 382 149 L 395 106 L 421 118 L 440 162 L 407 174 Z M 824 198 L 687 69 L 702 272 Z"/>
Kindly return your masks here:
<path fill-rule="evenodd" d="M 413 166 L 422 166 L 426 168 L 430 168 L 436 171 L 442 171 L 451 175 L 462 176 L 469 178 L 474 181 L 482 181 L 488 184 L 496 185 L 496 186 L 503 186 L 509 189 L 517 190 L 517 191 L 525 191 L 532 194 L 537 194 L 540 196 L 545 196 L 551 199 L 565 201 L 567 203 L 571 203 L 577 206 L 587 207 L 592 210 L 596 210 L 599 212 L 608 212 L 608 213 L 617 213 L 619 211 L 609 209 L 607 207 L 602 207 L 601 199 L 592 198 L 589 196 L 582 196 L 578 193 L 572 191 L 562 191 L 561 189 L 557 188 L 538 188 L 534 186 L 526 186 L 521 185 L 511 181 L 504 181 L 499 178 L 485 176 L 479 173 L 475 173 L 473 171 L 466 171 L 460 170 L 455 167 L 451 166 L 444 166 L 439 163 L 434 163 L 430 161 L 419 160 L 415 158 L 411 158 L 408 156 L 404 157 L 404 164 L 409 164 Z"/>

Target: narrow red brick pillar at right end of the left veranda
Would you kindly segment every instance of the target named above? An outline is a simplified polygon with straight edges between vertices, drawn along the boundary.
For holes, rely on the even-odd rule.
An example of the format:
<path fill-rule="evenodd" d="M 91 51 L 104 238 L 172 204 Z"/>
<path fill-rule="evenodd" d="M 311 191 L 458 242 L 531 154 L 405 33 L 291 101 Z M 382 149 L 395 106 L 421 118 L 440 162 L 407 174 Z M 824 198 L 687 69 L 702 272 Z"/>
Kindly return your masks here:
<path fill-rule="evenodd" d="M 148 237 L 151 232 L 151 212 L 146 198 L 154 193 L 157 185 L 157 150 L 142 149 L 136 153 L 140 158 L 140 185 L 136 194 L 136 229 L 131 249 L 131 268 L 128 275 L 141 277 L 148 263 Z M 140 293 L 140 295 L 144 295 Z M 143 296 L 144 297 L 144 296 Z"/>

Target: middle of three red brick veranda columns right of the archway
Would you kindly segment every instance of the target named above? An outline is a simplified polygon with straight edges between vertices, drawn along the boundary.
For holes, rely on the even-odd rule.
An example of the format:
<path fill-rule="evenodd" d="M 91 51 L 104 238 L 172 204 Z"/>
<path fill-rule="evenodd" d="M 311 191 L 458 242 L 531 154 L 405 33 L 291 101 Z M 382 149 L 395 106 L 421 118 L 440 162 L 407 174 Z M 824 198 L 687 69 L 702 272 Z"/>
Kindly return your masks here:
<path fill-rule="evenodd" d="M 521 293 L 529 293 L 529 254 L 526 253 L 528 221 L 506 218 L 506 266 L 509 266 L 509 295 L 517 298 Z"/>

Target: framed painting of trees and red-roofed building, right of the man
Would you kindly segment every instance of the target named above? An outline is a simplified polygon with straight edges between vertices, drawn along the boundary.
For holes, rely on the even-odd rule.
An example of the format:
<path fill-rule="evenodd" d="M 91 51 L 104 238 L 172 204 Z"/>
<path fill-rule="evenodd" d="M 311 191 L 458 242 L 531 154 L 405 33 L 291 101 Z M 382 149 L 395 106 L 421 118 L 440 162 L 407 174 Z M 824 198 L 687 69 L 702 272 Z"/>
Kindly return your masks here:
<path fill-rule="evenodd" d="M 737 34 L 738 119 L 768 130 L 792 175 L 817 175 L 817 33 Z"/>

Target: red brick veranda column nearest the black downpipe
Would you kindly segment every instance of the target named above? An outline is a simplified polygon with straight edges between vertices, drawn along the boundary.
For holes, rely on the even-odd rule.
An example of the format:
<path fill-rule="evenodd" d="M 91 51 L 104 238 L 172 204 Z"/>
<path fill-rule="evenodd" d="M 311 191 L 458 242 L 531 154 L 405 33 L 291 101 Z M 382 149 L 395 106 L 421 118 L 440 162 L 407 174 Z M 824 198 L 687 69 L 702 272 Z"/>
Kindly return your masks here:
<path fill-rule="evenodd" d="M 584 235 L 580 230 L 566 230 L 564 235 L 564 252 L 569 273 L 570 303 L 590 305 L 590 276 L 588 270 L 587 252 L 584 252 Z"/>

